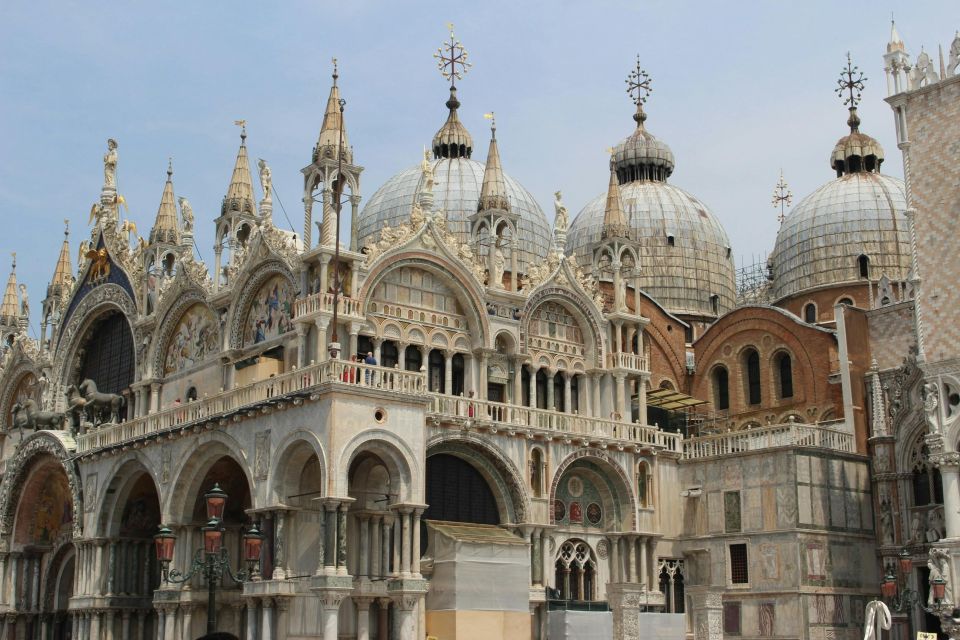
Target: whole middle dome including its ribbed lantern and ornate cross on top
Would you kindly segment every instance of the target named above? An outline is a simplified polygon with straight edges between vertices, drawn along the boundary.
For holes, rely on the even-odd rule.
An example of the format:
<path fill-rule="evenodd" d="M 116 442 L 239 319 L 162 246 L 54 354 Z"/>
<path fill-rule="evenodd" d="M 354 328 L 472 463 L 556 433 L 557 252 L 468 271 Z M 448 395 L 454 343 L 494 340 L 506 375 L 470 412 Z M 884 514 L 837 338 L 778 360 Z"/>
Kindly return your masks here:
<path fill-rule="evenodd" d="M 639 64 L 628 86 L 649 92 L 649 76 Z M 590 272 L 595 249 L 608 239 L 626 238 L 639 258 L 645 293 L 671 313 L 716 317 L 736 300 L 730 240 L 703 202 L 667 183 L 673 152 L 646 130 L 645 99 L 641 92 L 634 98 L 636 129 L 611 154 L 607 192 L 571 223 L 567 253 Z"/>

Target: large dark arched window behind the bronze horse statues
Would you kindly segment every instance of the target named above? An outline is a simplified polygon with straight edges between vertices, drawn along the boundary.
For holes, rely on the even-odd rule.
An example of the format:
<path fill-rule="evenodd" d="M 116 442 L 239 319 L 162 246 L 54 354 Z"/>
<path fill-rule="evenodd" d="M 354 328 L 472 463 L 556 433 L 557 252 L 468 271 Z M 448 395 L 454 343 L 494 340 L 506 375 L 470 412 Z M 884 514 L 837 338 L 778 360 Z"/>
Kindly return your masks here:
<path fill-rule="evenodd" d="M 121 393 L 133 382 L 133 334 L 127 319 L 113 312 L 89 332 L 77 382 L 91 379 L 97 390 Z"/>

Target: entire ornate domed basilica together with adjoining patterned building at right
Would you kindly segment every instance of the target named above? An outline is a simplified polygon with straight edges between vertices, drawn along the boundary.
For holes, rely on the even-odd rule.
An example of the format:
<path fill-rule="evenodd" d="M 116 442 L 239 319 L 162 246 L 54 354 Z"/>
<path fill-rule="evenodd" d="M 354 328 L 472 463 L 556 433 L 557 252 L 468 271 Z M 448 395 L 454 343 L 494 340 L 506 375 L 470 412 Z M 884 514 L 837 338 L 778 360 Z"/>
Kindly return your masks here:
<path fill-rule="evenodd" d="M 938 72 L 891 35 L 906 182 L 848 66 L 832 178 L 749 286 L 639 64 L 551 223 L 495 122 L 474 159 L 458 47 L 369 197 L 334 71 L 300 233 L 242 122 L 219 212 L 171 167 L 146 237 L 108 141 L 76 262 L 0 304 L 0 638 L 854 638 L 890 579 L 898 638 L 957 633 L 960 38 Z"/>

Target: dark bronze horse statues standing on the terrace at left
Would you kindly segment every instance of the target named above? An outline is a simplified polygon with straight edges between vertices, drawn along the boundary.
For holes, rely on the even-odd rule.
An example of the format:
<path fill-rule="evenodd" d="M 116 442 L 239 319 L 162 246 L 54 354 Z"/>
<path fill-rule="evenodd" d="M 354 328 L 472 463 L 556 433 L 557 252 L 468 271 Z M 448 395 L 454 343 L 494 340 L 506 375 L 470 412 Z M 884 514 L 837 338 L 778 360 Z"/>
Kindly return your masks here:
<path fill-rule="evenodd" d="M 84 423 L 98 426 L 120 422 L 120 412 L 127 400 L 116 393 L 103 393 L 97 390 L 97 384 L 87 378 L 80 386 L 70 385 L 64 395 L 67 397 L 67 410 L 43 411 L 36 400 L 28 398 L 12 407 L 13 426 L 20 429 L 62 430 L 64 421 L 69 418 L 67 429 L 79 431 Z"/>

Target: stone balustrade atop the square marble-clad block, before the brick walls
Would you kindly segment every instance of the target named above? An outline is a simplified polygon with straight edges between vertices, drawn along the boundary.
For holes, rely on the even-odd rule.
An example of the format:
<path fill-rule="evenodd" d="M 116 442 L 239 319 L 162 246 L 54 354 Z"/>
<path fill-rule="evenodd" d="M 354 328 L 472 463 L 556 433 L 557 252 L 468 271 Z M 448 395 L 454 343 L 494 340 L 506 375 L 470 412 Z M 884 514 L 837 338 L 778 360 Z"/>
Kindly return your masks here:
<path fill-rule="evenodd" d="M 791 422 L 759 429 L 744 429 L 683 441 L 683 458 L 699 460 L 777 447 L 810 447 L 856 453 L 853 434 L 843 420 L 801 424 Z"/>

